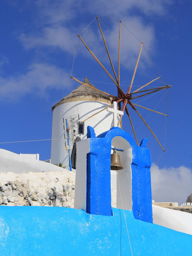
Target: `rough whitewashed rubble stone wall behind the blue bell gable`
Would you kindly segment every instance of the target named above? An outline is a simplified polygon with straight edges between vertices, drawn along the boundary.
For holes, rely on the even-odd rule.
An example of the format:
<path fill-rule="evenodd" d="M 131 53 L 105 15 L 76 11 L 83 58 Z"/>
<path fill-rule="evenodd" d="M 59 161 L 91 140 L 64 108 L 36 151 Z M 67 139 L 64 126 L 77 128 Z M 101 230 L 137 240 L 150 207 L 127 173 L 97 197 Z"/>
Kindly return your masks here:
<path fill-rule="evenodd" d="M 75 173 L 0 173 L 1 206 L 74 206 Z M 116 193 L 112 188 L 112 206 Z"/>

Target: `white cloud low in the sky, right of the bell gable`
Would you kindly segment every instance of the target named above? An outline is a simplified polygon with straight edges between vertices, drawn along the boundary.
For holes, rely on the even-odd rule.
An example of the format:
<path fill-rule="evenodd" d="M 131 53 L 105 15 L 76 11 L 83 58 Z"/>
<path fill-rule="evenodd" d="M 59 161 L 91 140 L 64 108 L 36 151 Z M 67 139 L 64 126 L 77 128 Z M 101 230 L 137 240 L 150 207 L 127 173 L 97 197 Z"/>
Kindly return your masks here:
<path fill-rule="evenodd" d="M 151 182 L 155 202 L 178 202 L 180 205 L 192 193 L 192 170 L 184 166 L 160 169 L 155 165 Z"/>

